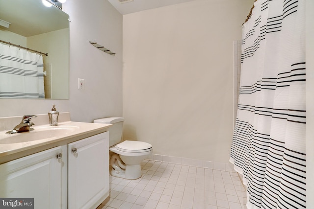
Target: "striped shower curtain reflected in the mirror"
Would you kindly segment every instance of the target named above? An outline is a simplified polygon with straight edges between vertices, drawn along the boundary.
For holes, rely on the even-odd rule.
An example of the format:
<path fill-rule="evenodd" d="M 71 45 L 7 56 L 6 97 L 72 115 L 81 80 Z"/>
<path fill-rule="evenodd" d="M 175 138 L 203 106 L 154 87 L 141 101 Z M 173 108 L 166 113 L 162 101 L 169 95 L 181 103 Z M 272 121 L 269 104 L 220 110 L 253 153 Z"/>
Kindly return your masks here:
<path fill-rule="evenodd" d="M 45 98 L 42 55 L 0 44 L 0 98 Z"/>

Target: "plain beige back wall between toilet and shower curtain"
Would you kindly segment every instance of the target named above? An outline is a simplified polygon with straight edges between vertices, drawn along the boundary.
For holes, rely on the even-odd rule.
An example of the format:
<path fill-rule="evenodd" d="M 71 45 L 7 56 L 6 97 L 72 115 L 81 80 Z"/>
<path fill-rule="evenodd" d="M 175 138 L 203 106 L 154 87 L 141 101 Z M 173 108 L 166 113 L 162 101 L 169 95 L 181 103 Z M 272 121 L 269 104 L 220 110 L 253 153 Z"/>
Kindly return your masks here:
<path fill-rule="evenodd" d="M 254 0 L 195 0 L 123 16 L 124 139 L 227 163 L 233 41 Z"/>

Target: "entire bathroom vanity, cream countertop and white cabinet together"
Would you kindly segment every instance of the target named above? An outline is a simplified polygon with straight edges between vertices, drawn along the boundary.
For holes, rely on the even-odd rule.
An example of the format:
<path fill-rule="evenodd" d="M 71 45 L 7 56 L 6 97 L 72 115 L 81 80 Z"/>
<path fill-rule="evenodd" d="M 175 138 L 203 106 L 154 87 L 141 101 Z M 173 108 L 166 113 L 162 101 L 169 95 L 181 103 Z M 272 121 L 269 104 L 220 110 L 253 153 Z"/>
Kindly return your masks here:
<path fill-rule="evenodd" d="M 20 119 L 0 118 L 0 198 L 34 198 L 35 209 L 97 208 L 109 195 L 111 125 L 61 113 L 49 126 L 45 114 L 33 118 L 33 131 L 5 134 Z"/>

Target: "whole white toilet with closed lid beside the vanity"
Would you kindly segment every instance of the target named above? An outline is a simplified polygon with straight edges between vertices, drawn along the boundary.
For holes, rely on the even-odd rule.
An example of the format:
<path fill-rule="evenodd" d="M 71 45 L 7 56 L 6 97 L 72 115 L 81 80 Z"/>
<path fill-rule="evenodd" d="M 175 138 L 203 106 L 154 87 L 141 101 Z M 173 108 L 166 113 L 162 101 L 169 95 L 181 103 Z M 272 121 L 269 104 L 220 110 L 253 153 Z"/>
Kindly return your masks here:
<path fill-rule="evenodd" d="M 153 154 L 153 146 L 143 141 L 122 141 L 123 117 L 105 117 L 94 123 L 112 124 L 109 127 L 109 150 L 111 175 L 124 179 L 138 179 L 142 176 L 141 162 Z"/>

